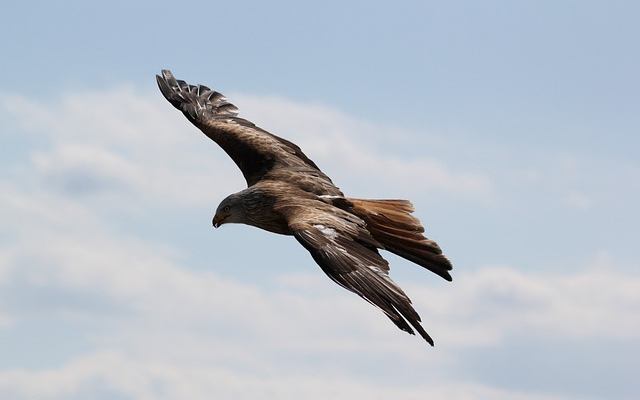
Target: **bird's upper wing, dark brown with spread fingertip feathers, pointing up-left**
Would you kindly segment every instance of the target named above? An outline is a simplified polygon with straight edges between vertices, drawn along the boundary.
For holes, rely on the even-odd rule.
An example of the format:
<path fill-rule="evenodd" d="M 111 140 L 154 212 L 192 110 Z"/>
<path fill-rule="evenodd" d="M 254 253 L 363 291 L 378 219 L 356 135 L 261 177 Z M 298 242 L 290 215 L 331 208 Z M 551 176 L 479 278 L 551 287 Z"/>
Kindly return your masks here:
<path fill-rule="evenodd" d="M 231 157 L 248 186 L 265 178 L 290 179 L 306 191 L 340 193 L 297 145 L 237 117 L 238 109 L 222 94 L 177 80 L 170 71 L 156 80 L 164 97 Z"/>

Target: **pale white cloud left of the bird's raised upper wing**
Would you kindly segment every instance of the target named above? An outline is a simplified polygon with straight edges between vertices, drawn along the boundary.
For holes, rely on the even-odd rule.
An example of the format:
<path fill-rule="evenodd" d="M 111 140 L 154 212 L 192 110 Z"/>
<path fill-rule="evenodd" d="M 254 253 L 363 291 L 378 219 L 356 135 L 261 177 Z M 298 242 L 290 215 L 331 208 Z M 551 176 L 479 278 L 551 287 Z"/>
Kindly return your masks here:
<path fill-rule="evenodd" d="M 113 202 L 114 192 L 125 191 L 120 200 L 127 204 L 119 204 L 125 209 L 134 196 L 151 206 L 153 199 L 209 204 L 225 195 L 224 187 L 241 187 L 231 160 L 155 97 L 127 88 L 68 94 L 54 104 L 5 97 L 17 125 L 45 144 L 16 174 L 72 196 L 98 194 Z"/>

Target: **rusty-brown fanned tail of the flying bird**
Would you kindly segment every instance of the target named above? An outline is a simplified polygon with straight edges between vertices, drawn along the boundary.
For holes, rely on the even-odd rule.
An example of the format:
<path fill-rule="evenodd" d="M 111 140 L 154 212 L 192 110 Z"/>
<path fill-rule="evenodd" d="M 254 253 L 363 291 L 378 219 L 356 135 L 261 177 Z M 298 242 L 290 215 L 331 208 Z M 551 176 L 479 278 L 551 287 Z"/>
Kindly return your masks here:
<path fill-rule="evenodd" d="M 367 230 L 385 246 L 385 250 L 414 262 L 451 281 L 451 262 L 438 244 L 422 235 L 424 228 L 411 215 L 413 205 L 407 200 L 347 199 L 352 212 L 367 223 Z"/>

